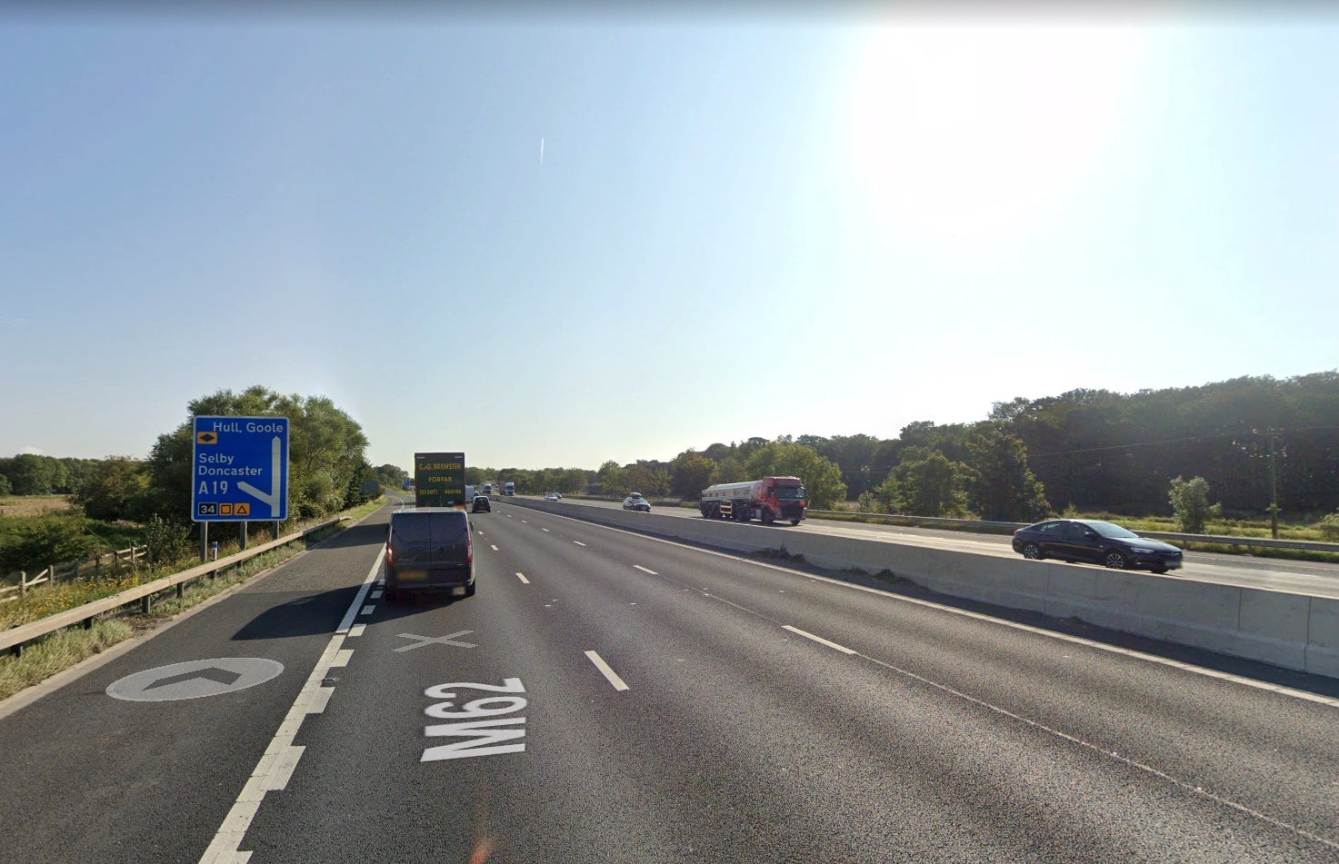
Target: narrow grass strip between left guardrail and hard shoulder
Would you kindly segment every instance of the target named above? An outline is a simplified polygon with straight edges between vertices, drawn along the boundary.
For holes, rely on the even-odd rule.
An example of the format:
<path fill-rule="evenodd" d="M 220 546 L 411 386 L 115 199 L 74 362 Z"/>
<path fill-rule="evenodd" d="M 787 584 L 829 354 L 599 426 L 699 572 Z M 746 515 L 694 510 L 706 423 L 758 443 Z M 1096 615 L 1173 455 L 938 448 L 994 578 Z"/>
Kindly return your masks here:
<path fill-rule="evenodd" d="M 370 502 L 345 516 L 351 522 L 358 522 L 363 516 L 379 508 L 384 502 Z M 20 657 L 12 654 L 0 655 L 0 699 L 7 699 L 15 693 L 46 681 L 56 673 L 100 654 L 108 647 L 123 642 L 135 634 L 153 630 L 163 621 L 174 618 L 181 613 L 193 609 L 212 597 L 222 594 L 256 578 L 257 575 L 279 567 L 284 562 L 296 558 L 316 543 L 333 534 L 339 534 L 344 526 L 331 526 L 323 531 L 316 531 L 299 540 L 288 543 L 276 550 L 270 550 L 256 558 L 246 559 L 234 567 L 220 571 L 213 578 L 201 576 L 182 588 L 182 595 L 175 597 L 175 588 L 163 592 L 169 599 L 163 599 L 150 606 L 149 614 L 143 614 L 139 605 L 126 606 L 115 613 L 94 621 L 92 627 L 84 630 L 82 625 L 75 625 L 64 630 L 58 630 L 51 635 L 29 642 L 23 649 Z M 191 562 L 194 564 L 195 562 Z M 162 574 L 159 574 L 162 575 Z M 154 576 L 158 578 L 158 576 Z M 150 579 L 145 579 L 149 582 Z M 35 591 L 36 592 L 36 591 Z M 106 595 L 106 594 L 104 594 Z M 90 602 L 90 601 L 84 601 Z"/>

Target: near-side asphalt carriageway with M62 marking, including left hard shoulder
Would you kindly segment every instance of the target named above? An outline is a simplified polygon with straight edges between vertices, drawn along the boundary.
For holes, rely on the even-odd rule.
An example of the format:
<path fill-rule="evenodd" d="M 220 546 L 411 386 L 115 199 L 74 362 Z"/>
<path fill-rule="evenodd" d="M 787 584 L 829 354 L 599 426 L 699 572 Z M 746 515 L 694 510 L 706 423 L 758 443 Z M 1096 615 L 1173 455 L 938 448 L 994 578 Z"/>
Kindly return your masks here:
<path fill-rule="evenodd" d="M 1339 861 L 1334 699 L 506 500 L 388 606 L 387 518 L 0 704 L 4 860 Z"/>

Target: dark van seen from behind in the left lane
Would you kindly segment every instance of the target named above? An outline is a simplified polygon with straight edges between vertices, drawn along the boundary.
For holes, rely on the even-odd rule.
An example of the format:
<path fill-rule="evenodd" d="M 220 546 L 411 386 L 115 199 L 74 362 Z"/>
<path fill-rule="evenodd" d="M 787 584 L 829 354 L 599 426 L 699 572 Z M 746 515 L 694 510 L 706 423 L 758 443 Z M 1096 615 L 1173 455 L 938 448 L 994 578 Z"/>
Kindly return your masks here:
<path fill-rule="evenodd" d="M 463 510 L 424 507 L 391 514 L 386 538 L 386 599 L 408 591 L 474 594 L 474 540 Z"/>

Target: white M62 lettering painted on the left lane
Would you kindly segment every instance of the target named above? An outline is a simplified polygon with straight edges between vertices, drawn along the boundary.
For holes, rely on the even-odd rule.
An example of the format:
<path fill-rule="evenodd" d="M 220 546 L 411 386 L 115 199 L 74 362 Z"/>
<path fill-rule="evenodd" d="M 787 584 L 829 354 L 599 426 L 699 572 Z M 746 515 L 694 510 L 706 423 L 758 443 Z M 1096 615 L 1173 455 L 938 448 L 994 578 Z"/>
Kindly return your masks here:
<path fill-rule="evenodd" d="M 497 683 L 470 683 L 458 681 L 454 683 L 439 683 L 423 691 L 430 699 L 455 699 L 457 690 L 482 690 L 485 693 L 525 693 L 525 685 L 520 678 L 506 678 Z M 525 742 L 501 744 L 513 738 L 524 738 L 525 717 L 503 717 L 525 708 L 525 697 L 520 695 L 485 695 L 470 699 L 455 709 L 454 701 L 437 702 L 423 709 L 423 713 L 435 720 L 457 720 L 465 722 L 435 724 L 423 728 L 423 734 L 428 738 L 463 738 L 435 748 L 423 750 L 420 762 L 437 762 L 447 758 L 467 758 L 470 756 L 494 756 L 497 753 L 520 753 L 525 749 Z M 479 720 L 487 717 L 490 720 Z"/>

